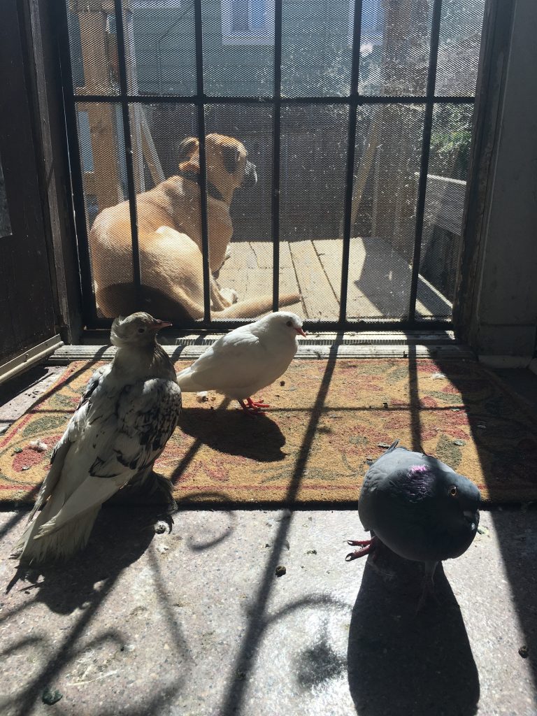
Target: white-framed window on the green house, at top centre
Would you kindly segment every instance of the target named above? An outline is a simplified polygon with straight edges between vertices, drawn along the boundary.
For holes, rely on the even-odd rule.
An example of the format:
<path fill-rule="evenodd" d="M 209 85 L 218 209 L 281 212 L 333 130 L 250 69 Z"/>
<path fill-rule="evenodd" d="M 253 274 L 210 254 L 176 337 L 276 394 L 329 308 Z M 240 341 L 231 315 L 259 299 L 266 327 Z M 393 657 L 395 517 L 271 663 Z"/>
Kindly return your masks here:
<path fill-rule="evenodd" d="M 274 0 L 222 0 L 223 44 L 273 44 Z"/>

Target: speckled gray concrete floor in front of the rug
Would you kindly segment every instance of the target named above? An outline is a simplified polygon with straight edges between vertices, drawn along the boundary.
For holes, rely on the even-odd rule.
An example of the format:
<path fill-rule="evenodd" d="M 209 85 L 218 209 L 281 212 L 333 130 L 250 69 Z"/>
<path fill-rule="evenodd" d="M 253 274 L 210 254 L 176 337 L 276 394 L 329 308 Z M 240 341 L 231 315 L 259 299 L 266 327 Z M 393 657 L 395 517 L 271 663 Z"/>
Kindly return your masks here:
<path fill-rule="evenodd" d="M 35 400 L 26 375 L 1 419 Z M 0 513 L 2 716 L 537 715 L 531 508 L 482 512 L 418 614 L 420 565 L 344 561 L 355 511 L 180 511 L 158 534 L 109 506 L 77 558 L 6 594 L 25 516 Z"/>

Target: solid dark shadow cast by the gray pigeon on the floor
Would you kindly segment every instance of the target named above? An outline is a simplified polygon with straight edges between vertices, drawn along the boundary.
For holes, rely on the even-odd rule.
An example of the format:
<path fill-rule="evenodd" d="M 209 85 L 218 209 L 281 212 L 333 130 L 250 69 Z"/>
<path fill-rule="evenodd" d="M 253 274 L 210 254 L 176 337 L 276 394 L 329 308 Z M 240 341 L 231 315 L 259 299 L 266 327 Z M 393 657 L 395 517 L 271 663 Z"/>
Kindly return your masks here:
<path fill-rule="evenodd" d="M 442 566 L 416 614 L 422 565 L 382 550 L 352 610 L 349 690 L 359 716 L 473 716 L 480 687 L 463 617 Z"/>

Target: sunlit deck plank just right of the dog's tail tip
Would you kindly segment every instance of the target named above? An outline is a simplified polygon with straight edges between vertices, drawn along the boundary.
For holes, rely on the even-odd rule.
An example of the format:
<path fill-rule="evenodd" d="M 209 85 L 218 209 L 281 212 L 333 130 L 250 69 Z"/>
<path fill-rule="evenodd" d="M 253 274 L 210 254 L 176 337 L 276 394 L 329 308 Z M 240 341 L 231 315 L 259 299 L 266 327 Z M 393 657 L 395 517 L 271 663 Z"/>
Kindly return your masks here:
<path fill-rule="evenodd" d="M 312 321 L 332 321 L 339 316 L 339 303 L 324 273 L 311 241 L 289 244 L 299 292 L 304 301 L 306 316 Z"/>

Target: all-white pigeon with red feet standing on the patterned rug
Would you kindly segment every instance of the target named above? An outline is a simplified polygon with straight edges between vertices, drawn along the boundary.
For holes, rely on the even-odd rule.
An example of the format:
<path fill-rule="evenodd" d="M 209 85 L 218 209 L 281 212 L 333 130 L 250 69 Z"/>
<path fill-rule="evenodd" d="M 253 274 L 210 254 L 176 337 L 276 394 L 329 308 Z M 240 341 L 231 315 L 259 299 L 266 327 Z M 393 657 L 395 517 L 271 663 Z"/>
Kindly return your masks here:
<path fill-rule="evenodd" d="M 246 412 L 258 412 L 269 405 L 251 396 L 286 372 L 299 335 L 306 334 L 296 314 L 278 311 L 263 316 L 221 336 L 178 374 L 178 385 L 183 392 L 216 390 L 238 400 Z"/>

